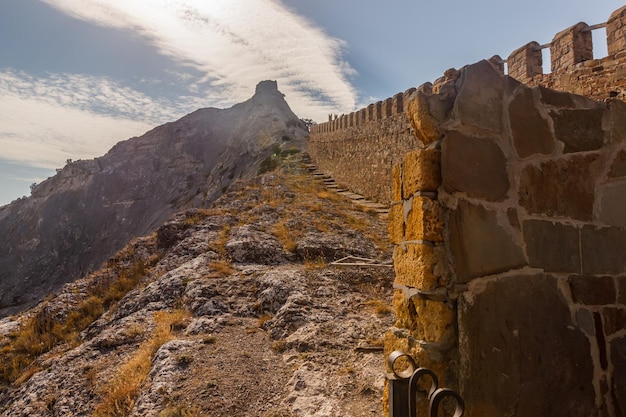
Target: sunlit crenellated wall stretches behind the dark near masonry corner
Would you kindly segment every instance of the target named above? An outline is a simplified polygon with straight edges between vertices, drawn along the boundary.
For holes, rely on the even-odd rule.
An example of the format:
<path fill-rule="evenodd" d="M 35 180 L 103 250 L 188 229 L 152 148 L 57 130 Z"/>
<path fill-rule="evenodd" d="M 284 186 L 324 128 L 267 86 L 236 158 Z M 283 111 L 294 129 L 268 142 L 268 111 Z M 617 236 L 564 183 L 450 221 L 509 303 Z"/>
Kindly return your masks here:
<path fill-rule="evenodd" d="M 606 27 L 609 55 L 593 59 L 591 31 Z M 550 48 L 552 72 L 543 74 L 541 50 Z M 626 6 L 613 12 L 606 23 L 578 23 L 556 34 L 549 44 L 530 42 L 507 60 L 490 62 L 501 73 L 529 86 L 584 95 L 594 100 L 626 100 Z M 455 70 L 421 89 L 438 92 Z M 443 87 L 442 87 L 443 86 Z M 419 147 L 406 120 L 406 107 L 415 88 L 366 108 L 312 126 L 308 150 L 326 174 L 351 190 L 382 203 L 391 201 L 391 169 L 406 152 Z"/>

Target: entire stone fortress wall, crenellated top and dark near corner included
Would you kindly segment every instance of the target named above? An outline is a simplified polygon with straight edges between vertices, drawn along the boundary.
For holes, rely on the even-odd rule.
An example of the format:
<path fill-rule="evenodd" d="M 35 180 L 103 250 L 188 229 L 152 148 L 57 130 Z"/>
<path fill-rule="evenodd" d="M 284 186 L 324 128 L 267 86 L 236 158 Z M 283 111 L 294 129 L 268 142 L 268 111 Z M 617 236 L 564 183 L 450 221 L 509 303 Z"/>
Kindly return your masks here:
<path fill-rule="evenodd" d="M 529 75 L 527 45 L 511 76 L 494 57 L 311 132 L 322 171 L 391 204 L 385 355 L 435 370 L 466 416 L 626 415 L 626 6 L 608 57 L 576 53 L 586 28 L 555 37 L 552 74 Z"/>

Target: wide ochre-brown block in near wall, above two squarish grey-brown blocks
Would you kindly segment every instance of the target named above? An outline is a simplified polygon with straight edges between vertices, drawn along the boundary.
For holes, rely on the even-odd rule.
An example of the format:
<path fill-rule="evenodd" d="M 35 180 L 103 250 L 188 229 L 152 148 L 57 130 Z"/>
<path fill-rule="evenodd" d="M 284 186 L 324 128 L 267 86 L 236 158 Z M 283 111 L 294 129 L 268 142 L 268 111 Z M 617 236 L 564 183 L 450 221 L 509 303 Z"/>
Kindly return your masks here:
<path fill-rule="evenodd" d="M 532 214 L 590 221 L 601 169 L 599 154 L 528 165 L 521 173 L 519 203 Z"/>

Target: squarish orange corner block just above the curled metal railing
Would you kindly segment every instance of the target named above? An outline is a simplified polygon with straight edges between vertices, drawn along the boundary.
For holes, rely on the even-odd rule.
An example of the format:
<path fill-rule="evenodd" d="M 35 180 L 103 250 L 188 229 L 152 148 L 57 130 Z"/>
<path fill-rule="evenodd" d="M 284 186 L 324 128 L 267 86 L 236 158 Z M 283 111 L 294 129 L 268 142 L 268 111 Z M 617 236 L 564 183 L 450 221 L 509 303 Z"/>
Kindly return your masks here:
<path fill-rule="evenodd" d="M 456 312 L 448 304 L 440 301 L 414 298 L 417 311 L 417 333 L 420 340 L 447 344 L 456 337 Z"/>

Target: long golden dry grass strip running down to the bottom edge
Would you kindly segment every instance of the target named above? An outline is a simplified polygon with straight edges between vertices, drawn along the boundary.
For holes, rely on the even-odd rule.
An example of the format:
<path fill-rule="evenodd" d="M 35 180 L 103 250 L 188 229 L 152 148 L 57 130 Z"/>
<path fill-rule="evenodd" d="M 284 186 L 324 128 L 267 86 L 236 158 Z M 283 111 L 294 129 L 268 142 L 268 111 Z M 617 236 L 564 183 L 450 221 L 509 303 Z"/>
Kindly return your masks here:
<path fill-rule="evenodd" d="M 142 343 L 134 355 L 120 368 L 105 385 L 102 401 L 94 410 L 95 417 L 122 417 L 129 415 L 143 381 L 150 372 L 152 357 L 167 341 L 172 339 L 172 329 L 189 317 L 183 310 L 154 313 L 155 330 L 152 337 Z"/>

